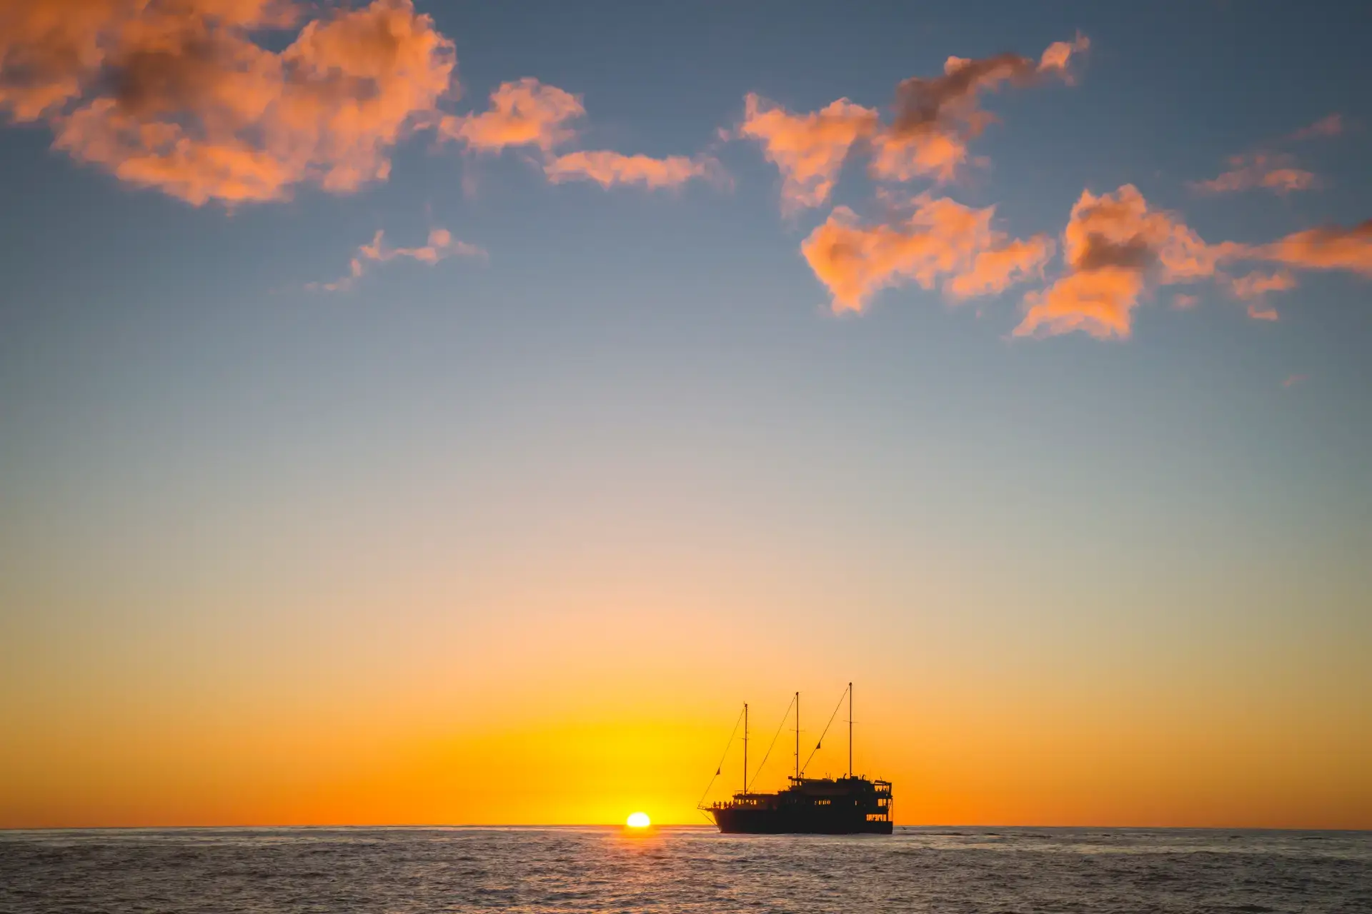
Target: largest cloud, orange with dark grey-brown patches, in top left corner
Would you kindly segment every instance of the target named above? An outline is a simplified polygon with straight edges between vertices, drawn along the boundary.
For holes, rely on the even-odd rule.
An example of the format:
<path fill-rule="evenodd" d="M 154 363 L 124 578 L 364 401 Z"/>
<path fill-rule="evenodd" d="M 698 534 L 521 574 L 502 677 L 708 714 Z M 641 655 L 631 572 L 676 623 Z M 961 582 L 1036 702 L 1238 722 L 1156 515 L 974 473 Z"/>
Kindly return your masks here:
<path fill-rule="evenodd" d="M 307 22 L 272 0 L 11 4 L 0 107 L 54 145 L 192 204 L 355 190 L 453 88 L 453 42 L 409 0 Z"/>

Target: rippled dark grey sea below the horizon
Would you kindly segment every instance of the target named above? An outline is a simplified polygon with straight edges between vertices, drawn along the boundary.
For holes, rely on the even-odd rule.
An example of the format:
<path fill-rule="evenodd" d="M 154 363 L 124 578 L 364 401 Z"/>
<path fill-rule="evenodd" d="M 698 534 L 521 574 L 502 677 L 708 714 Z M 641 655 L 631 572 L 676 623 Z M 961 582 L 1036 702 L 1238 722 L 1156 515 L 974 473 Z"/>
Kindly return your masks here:
<path fill-rule="evenodd" d="M 0 911 L 1368 911 L 1372 833 L 0 832 Z"/>

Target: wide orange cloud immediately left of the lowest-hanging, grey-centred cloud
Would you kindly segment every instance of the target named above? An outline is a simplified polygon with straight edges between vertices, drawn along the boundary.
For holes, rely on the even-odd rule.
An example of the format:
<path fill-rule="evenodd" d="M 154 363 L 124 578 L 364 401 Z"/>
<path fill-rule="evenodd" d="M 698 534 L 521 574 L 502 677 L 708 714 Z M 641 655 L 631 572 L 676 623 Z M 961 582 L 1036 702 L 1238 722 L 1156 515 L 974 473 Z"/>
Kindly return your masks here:
<path fill-rule="evenodd" d="M 833 297 L 834 312 L 862 311 L 881 289 L 941 285 L 952 299 L 995 295 L 1033 275 L 1052 256 L 1045 236 L 1010 240 L 992 227 L 995 207 L 974 210 L 947 197 L 916 197 L 895 225 L 862 225 L 836 208 L 801 243 L 801 254 Z"/>

